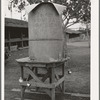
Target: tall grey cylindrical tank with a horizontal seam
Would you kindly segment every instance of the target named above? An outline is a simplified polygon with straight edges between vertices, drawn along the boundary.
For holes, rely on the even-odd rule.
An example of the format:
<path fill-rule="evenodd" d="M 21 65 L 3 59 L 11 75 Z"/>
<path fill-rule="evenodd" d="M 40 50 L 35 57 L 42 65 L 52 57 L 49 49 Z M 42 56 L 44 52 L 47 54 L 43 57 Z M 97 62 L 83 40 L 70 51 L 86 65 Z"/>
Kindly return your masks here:
<path fill-rule="evenodd" d="M 29 57 L 57 60 L 63 52 L 63 30 L 59 13 L 51 3 L 39 4 L 29 13 Z"/>

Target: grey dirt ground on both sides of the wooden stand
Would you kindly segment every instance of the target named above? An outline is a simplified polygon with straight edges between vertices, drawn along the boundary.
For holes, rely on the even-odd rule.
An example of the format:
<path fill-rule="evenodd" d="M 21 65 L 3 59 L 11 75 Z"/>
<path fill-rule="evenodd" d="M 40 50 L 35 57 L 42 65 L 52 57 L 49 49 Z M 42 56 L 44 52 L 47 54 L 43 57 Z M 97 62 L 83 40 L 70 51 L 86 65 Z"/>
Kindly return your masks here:
<path fill-rule="evenodd" d="M 12 91 L 12 89 L 20 89 L 18 83 L 20 66 L 15 59 L 27 56 L 28 49 L 11 52 L 11 56 L 5 66 L 5 100 L 16 100 L 15 98 L 20 98 L 20 92 Z M 90 48 L 86 42 L 68 44 L 68 56 L 70 56 L 70 60 L 68 66 L 65 68 L 66 93 L 90 94 Z M 71 74 L 68 74 L 69 69 L 72 72 Z M 30 95 L 27 94 L 27 97 L 30 97 Z M 48 96 L 45 97 L 46 100 L 50 99 L 47 98 Z M 41 97 L 41 100 L 45 99 Z M 32 100 L 37 99 L 34 98 Z"/>

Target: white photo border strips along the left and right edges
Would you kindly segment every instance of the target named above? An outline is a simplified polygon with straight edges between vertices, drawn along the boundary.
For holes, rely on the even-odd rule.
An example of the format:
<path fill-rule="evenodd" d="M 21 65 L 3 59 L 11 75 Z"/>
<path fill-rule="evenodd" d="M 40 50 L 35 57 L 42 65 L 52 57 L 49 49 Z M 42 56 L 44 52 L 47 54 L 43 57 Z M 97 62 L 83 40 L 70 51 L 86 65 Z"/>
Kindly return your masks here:
<path fill-rule="evenodd" d="M 4 100 L 4 10 L 1 0 L 1 100 Z M 99 0 L 91 0 L 91 100 L 99 100 Z"/>

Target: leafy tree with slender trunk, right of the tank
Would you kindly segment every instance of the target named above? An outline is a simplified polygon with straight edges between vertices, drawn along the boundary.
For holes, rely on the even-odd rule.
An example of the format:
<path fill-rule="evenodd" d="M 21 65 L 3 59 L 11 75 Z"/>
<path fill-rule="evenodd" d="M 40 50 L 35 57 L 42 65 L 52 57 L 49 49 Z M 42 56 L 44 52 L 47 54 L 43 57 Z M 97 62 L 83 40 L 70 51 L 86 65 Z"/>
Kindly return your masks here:
<path fill-rule="evenodd" d="M 54 0 L 55 3 L 66 6 L 63 12 L 63 28 L 64 30 L 69 26 L 82 22 L 90 23 L 91 3 L 90 0 Z M 88 32 L 87 32 L 88 34 Z M 66 33 L 64 31 L 64 57 L 67 56 Z"/>

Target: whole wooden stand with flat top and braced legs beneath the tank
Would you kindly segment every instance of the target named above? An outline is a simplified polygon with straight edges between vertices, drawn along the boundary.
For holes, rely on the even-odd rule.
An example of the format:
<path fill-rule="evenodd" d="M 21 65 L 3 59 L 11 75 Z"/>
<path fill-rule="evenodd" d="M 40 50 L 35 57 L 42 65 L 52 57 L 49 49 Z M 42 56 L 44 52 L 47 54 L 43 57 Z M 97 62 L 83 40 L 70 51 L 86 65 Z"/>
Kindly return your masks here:
<path fill-rule="evenodd" d="M 54 62 L 38 62 L 30 60 L 29 57 L 17 59 L 17 62 L 21 66 L 21 77 L 19 79 L 21 85 L 21 100 L 24 100 L 26 87 L 36 87 L 37 90 L 43 88 L 51 97 L 51 100 L 55 100 L 56 87 L 59 87 L 61 93 L 64 94 L 64 65 L 68 59 Z M 55 69 L 57 67 L 61 67 L 61 75 L 56 73 Z M 46 73 L 39 73 L 40 68 L 45 69 Z M 28 77 L 25 77 L 24 72 L 27 72 Z M 45 82 L 47 79 L 49 79 L 48 83 Z"/>

